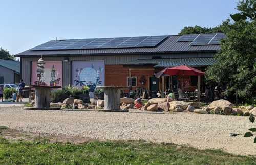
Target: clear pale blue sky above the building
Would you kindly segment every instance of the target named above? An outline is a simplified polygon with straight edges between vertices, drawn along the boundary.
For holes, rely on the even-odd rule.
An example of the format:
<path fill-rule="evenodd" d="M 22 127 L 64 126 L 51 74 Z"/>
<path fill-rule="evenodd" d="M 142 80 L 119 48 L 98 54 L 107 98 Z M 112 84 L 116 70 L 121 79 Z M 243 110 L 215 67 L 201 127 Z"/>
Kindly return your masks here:
<path fill-rule="evenodd" d="M 11 54 L 49 40 L 178 34 L 214 27 L 236 12 L 235 0 L 1 1 L 0 47 Z"/>

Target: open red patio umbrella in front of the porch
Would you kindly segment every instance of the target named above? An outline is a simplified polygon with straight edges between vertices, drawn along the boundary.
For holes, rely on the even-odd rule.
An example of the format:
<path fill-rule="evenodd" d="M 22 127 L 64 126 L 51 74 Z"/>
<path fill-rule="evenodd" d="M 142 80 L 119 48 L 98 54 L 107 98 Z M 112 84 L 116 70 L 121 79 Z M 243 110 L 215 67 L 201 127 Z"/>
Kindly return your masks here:
<path fill-rule="evenodd" d="M 182 91 L 183 91 L 183 76 L 198 76 L 198 75 L 204 75 L 204 72 L 201 70 L 195 69 L 193 67 L 189 67 L 186 65 L 180 65 L 176 67 L 171 67 L 171 68 L 165 68 L 162 70 L 164 74 L 173 76 L 173 75 L 180 75 L 182 76 Z"/>

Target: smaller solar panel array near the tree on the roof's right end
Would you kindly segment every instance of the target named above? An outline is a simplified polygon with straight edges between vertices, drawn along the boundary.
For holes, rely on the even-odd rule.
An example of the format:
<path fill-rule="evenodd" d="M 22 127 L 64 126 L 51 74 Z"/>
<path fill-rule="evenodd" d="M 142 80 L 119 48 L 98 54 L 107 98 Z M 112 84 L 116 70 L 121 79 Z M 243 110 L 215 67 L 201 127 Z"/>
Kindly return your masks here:
<path fill-rule="evenodd" d="M 190 45 L 216 45 L 220 44 L 222 38 L 225 38 L 223 33 L 199 34 Z"/>

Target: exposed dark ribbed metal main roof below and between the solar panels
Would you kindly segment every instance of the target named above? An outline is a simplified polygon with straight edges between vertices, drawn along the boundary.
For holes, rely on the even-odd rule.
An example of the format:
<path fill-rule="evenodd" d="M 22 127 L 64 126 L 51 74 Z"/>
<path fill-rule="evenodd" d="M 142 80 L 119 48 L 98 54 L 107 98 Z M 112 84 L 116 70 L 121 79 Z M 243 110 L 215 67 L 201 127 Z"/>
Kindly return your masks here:
<path fill-rule="evenodd" d="M 216 52 L 220 45 L 191 46 L 191 41 L 177 42 L 181 35 L 168 36 L 161 44 L 151 48 L 115 48 L 115 49 L 80 49 L 80 50 L 51 50 L 32 51 L 27 50 L 17 54 L 22 56 L 39 55 L 113 55 L 113 54 L 156 54 L 156 53 L 186 53 L 186 52 Z"/>

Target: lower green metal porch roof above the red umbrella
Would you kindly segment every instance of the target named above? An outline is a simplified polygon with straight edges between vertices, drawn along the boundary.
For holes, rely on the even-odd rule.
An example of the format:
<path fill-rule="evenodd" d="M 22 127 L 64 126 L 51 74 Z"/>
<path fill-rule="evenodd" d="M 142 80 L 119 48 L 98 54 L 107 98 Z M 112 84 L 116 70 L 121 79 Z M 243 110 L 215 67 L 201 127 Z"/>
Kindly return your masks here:
<path fill-rule="evenodd" d="M 211 66 L 214 58 L 168 58 L 168 59 L 138 59 L 124 65 L 155 65 L 154 67 L 187 66 Z"/>

